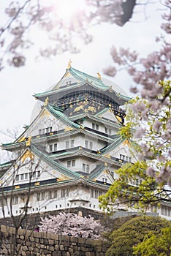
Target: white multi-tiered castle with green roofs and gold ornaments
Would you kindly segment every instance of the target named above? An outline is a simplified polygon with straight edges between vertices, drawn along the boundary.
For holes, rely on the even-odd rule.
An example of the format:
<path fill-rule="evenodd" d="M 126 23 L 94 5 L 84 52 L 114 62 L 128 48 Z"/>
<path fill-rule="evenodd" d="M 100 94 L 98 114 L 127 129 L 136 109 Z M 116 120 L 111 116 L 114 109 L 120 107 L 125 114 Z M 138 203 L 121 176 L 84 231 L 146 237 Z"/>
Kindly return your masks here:
<path fill-rule="evenodd" d="M 102 212 L 98 197 L 118 177 L 115 170 L 135 161 L 132 143 L 118 135 L 122 106 L 130 98 L 104 83 L 99 73 L 88 75 L 70 62 L 53 89 L 34 97 L 42 102 L 36 118 L 17 140 L 2 145 L 12 151 L 12 159 L 0 165 L 0 218 L 25 210 Z"/>

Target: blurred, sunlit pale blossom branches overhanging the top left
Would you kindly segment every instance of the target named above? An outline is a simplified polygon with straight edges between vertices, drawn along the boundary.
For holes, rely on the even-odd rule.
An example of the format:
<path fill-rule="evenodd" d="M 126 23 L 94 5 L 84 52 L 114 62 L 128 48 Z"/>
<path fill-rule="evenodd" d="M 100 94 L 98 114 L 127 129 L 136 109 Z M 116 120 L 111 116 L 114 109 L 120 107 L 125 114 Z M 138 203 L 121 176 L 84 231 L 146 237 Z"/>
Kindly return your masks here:
<path fill-rule="evenodd" d="M 90 26 L 104 22 L 123 26 L 141 2 L 144 4 L 142 0 L 80 0 L 75 4 L 53 0 L 9 1 L 5 9 L 7 22 L 0 26 L 0 70 L 7 63 L 14 67 L 25 65 L 26 53 L 40 31 L 44 35 L 40 56 L 50 58 L 68 50 L 78 53 L 77 41 L 88 44 L 93 39 L 88 33 Z"/>

